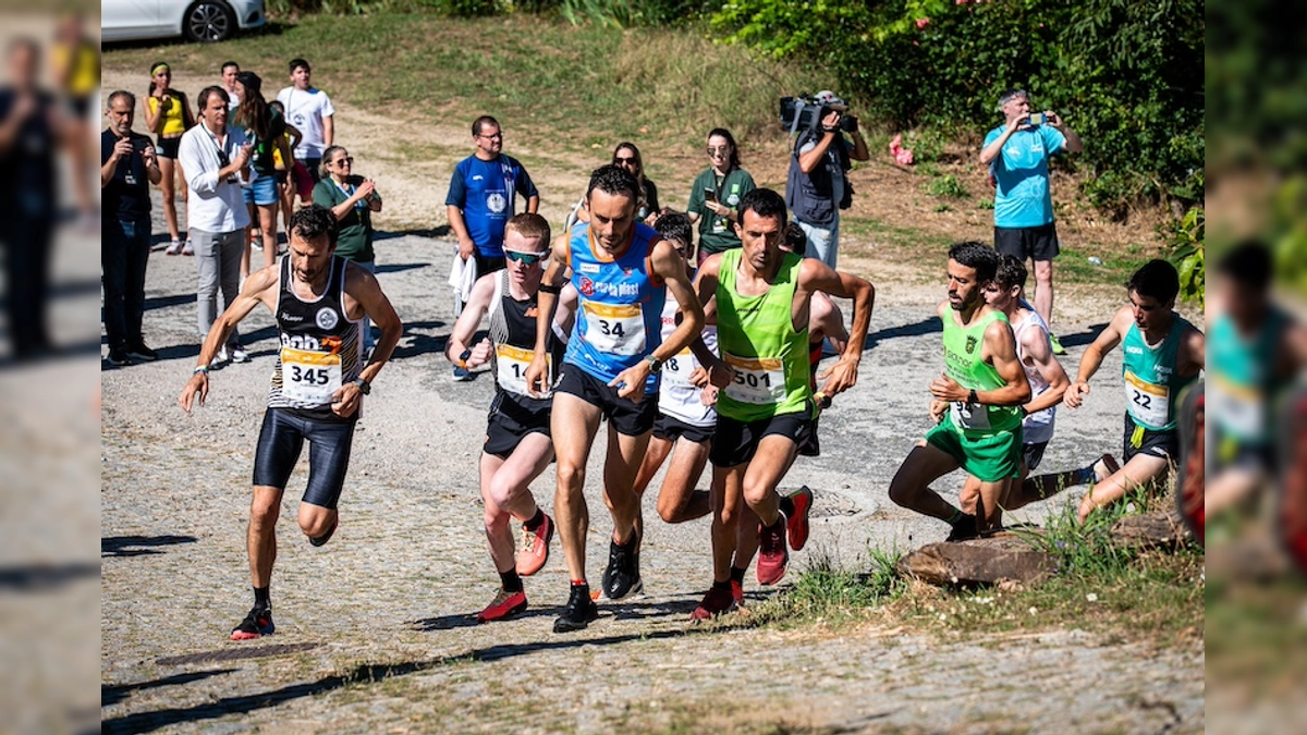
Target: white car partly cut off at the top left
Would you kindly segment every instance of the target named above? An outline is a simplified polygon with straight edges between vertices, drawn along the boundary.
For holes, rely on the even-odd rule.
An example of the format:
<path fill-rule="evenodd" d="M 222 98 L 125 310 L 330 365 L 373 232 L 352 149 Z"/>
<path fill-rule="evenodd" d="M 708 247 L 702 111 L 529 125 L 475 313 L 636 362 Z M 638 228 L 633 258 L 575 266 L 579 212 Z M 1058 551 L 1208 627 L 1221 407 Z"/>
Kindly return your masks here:
<path fill-rule="evenodd" d="M 101 39 L 225 41 L 268 22 L 263 0 L 102 0 Z"/>

